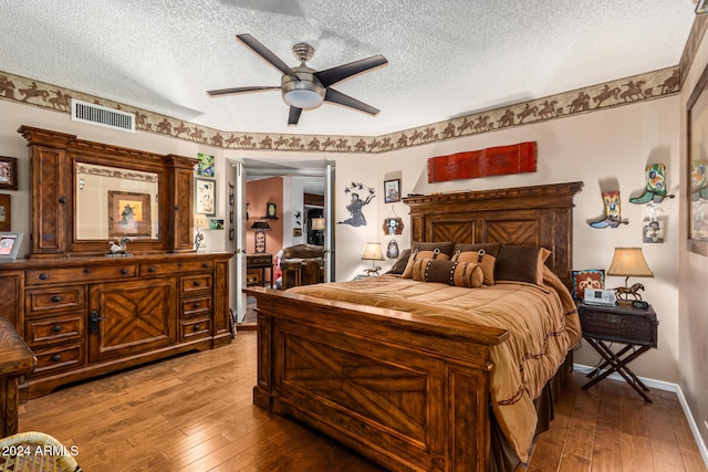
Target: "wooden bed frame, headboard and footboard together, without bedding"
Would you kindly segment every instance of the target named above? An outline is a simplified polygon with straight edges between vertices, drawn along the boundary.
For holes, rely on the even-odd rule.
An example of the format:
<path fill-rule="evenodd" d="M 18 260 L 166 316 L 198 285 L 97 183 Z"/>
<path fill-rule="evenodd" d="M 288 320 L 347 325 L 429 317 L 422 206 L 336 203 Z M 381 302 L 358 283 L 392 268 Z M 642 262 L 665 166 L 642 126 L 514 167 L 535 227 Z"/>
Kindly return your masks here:
<path fill-rule="evenodd" d="M 414 241 L 552 251 L 570 286 L 582 182 L 416 196 Z M 490 466 L 490 346 L 509 333 L 455 321 L 249 289 L 258 300 L 253 402 L 290 415 L 391 470 Z"/>

